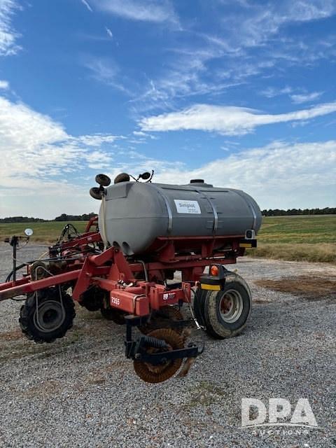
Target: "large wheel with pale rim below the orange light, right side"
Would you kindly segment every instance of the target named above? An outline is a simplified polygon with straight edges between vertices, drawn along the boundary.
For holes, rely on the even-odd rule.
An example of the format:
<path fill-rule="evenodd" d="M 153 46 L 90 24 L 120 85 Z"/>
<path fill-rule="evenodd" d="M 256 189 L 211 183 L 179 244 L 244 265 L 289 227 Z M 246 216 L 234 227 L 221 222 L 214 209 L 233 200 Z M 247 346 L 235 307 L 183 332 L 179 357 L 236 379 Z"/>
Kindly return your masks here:
<path fill-rule="evenodd" d="M 251 291 L 246 281 L 228 271 L 223 290 L 204 290 L 195 296 L 194 312 L 210 336 L 225 339 L 239 335 L 244 329 L 251 304 Z"/>

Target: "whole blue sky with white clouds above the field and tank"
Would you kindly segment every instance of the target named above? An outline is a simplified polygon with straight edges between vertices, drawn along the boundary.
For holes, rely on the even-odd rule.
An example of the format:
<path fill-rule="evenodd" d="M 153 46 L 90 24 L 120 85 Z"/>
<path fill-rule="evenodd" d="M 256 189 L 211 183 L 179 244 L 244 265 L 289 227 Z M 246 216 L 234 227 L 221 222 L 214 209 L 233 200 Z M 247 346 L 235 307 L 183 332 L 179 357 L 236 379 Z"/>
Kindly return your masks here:
<path fill-rule="evenodd" d="M 336 1 L 0 0 L 0 216 L 155 169 L 335 207 Z"/>

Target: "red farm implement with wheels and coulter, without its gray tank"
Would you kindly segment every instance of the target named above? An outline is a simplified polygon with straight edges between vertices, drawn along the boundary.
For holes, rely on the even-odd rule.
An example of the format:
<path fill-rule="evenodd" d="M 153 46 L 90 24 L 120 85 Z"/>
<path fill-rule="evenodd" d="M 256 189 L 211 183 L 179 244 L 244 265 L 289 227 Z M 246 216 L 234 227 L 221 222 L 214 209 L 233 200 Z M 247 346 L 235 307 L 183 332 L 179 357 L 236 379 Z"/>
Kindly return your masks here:
<path fill-rule="evenodd" d="M 254 233 L 243 235 L 156 237 L 151 251 L 125 255 L 118 244 L 106 245 L 92 218 L 83 234 L 66 225 L 62 238 L 49 248 L 48 258 L 27 262 L 20 279 L 16 267 L 0 284 L 0 300 L 27 299 L 20 327 L 35 342 L 63 337 L 73 324 L 74 303 L 125 324 L 125 354 L 145 381 L 165 381 L 183 360 L 202 353 L 186 344 L 190 327 L 211 337 L 237 335 L 251 310 L 245 281 L 225 269 L 255 246 Z M 6 240 L 15 260 L 19 237 Z M 209 274 L 204 274 L 205 268 Z M 174 274 L 181 272 L 179 279 Z M 186 313 L 184 310 L 186 309 Z M 188 316 L 188 317 L 185 317 Z M 134 337 L 134 327 L 137 332 Z M 185 364 L 188 371 L 190 361 Z"/>

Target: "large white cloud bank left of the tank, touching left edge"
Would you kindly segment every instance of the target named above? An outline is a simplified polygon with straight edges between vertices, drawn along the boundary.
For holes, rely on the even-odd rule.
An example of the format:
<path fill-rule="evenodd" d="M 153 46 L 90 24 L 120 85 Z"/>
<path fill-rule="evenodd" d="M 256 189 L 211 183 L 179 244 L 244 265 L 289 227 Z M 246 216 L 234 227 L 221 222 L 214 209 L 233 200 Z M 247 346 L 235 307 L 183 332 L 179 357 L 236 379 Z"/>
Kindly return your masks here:
<path fill-rule="evenodd" d="M 111 144 L 117 139 L 123 137 L 73 137 L 50 117 L 0 97 L 1 216 L 9 209 L 12 216 L 47 218 L 64 210 L 92 209 L 88 186 L 83 187 L 83 169 L 111 166 Z M 104 151 L 104 145 L 109 149 Z"/>

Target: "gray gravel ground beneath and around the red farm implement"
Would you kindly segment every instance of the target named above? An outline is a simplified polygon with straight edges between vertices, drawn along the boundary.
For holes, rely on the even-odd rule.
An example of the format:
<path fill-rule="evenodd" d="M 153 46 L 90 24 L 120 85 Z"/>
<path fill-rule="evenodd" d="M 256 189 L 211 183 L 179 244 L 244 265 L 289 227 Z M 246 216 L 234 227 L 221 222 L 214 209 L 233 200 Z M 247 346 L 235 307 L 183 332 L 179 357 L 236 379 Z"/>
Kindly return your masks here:
<path fill-rule="evenodd" d="M 27 246 L 20 260 L 36 257 Z M 0 245 L 0 280 L 10 248 Z M 258 279 L 336 268 L 245 258 L 237 272 L 255 300 L 243 334 L 214 341 L 186 378 L 141 381 L 124 356 L 124 328 L 77 307 L 73 329 L 34 344 L 18 327 L 20 302 L 0 304 L 1 447 L 334 447 L 336 300 L 308 300 L 255 286 Z M 195 330 L 195 339 L 203 334 Z M 241 428 L 241 398 L 308 398 L 319 429 Z M 276 432 L 277 430 L 277 432 Z M 293 434 L 290 434 L 290 430 Z M 289 433 L 288 433 L 289 431 Z"/>

